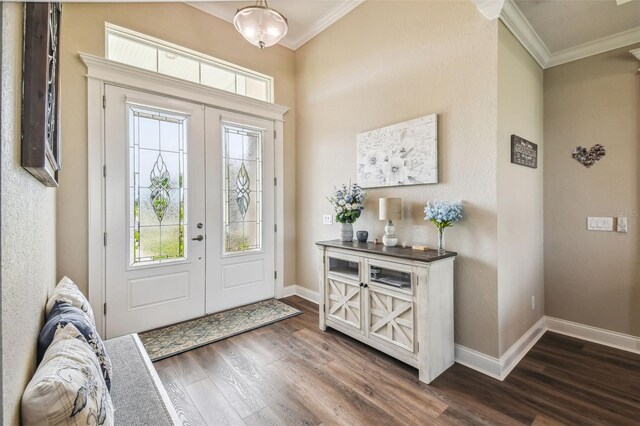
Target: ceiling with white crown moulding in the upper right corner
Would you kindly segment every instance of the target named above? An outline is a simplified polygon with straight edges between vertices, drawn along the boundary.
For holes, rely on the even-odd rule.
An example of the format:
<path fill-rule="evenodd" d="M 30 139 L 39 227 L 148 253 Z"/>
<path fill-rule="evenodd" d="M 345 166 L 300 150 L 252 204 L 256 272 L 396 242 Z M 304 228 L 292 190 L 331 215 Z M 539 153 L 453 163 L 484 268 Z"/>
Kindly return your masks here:
<path fill-rule="evenodd" d="M 500 18 L 543 68 L 640 42 L 640 0 L 506 0 Z"/>

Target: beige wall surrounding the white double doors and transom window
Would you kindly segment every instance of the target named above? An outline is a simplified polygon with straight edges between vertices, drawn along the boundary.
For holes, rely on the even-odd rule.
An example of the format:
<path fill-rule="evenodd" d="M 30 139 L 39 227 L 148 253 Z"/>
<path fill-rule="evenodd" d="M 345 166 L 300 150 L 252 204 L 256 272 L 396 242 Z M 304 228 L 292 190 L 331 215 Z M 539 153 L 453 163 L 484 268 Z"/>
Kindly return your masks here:
<path fill-rule="evenodd" d="M 285 284 L 295 279 L 295 103 L 293 52 L 263 52 L 228 22 L 185 4 L 71 4 L 63 7 L 63 171 L 58 192 L 58 275 L 87 290 L 87 81 L 78 52 L 104 56 L 104 23 L 120 25 L 275 78 L 275 102 L 285 116 Z"/>

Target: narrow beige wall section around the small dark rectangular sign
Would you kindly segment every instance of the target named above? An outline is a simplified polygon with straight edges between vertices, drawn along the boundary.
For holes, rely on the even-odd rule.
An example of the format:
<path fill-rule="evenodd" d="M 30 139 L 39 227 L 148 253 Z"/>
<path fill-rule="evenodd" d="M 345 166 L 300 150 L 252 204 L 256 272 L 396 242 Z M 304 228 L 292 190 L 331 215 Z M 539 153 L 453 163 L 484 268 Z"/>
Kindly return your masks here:
<path fill-rule="evenodd" d="M 502 355 L 544 315 L 544 143 L 542 68 L 502 23 L 498 38 L 498 310 Z M 511 164 L 512 134 L 538 144 L 537 169 Z"/>

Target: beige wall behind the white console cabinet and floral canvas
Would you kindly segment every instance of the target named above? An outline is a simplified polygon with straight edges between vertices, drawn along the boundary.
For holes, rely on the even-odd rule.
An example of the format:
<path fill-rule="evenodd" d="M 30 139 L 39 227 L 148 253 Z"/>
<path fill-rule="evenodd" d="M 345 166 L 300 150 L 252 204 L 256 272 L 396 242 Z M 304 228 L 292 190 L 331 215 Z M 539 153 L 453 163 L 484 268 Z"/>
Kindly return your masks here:
<path fill-rule="evenodd" d="M 447 230 L 456 260 L 456 342 L 498 355 L 496 134 L 498 24 L 471 2 L 365 2 L 296 51 L 298 284 L 317 289 L 314 242 L 334 185 L 356 178 L 356 134 L 439 114 L 440 183 L 369 191 L 354 225 L 381 238 L 378 198 L 402 197 L 400 241 L 436 243 L 430 199 L 464 200 Z"/>

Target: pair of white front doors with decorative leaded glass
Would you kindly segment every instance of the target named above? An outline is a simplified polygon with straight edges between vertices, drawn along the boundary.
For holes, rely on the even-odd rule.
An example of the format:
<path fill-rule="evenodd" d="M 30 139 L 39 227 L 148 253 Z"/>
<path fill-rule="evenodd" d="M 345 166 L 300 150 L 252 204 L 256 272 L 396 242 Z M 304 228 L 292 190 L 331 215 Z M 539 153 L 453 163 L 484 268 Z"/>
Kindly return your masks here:
<path fill-rule="evenodd" d="M 107 337 L 273 297 L 273 123 L 105 96 Z"/>

